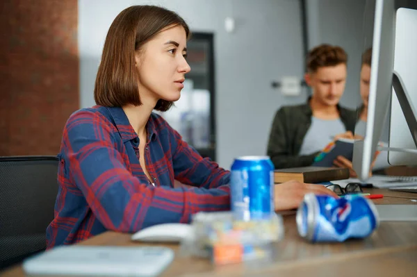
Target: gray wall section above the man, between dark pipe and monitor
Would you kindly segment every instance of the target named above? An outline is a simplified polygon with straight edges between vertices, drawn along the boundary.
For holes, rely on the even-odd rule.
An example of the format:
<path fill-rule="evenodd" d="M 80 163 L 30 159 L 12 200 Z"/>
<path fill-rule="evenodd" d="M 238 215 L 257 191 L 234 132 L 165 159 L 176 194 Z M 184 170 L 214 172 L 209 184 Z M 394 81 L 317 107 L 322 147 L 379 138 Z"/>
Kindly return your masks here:
<path fill-rule="evenodd" d="M 347 83 L 341 99 L 344 106 L 355 108 L 360 101 L 359 73 L 361 53 L 370 47 L 372 26 L 364 15 L 371 12 L 366 0 L 307 0 L 306 15 L 309 49 L 318 44 L 336 44 L 347 52 Z M 369 23 L 369 24 L 368 24 Z"/>

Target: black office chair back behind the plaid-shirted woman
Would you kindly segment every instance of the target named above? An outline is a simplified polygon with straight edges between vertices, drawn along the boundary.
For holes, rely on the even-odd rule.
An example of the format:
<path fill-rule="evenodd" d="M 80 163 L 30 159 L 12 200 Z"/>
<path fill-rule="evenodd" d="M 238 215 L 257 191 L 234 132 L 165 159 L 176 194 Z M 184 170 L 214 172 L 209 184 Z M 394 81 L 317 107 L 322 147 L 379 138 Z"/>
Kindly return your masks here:
<path fill-rule="evenodd" d="M 0 270 L 46 248 L 57 174 L 55 156 L 0 157 Z"/>

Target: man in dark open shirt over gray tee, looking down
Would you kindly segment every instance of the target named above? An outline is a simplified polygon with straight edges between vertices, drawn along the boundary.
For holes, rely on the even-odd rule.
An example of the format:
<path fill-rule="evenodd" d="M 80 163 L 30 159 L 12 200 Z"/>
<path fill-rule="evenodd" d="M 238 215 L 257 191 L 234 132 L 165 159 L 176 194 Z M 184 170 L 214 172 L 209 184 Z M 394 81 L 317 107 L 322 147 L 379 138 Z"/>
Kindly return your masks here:
<path fill-rule="evenodd" d="M 276 169 L 305 167 L 336 135 L 352 136 L 356 111 L 338 103 L 345 90 L 347 53 L 322 44 L 309 52 L 304 76 L 313 94 L 298 106 L 279 108 L 270 131 L 268 156 Z"/>

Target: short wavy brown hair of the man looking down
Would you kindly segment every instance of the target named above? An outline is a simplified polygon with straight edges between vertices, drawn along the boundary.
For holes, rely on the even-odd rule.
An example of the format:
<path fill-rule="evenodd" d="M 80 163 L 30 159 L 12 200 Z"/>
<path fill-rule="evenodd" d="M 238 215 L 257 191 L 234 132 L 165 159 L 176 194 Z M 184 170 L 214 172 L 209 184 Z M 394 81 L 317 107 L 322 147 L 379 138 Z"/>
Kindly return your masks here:
<path fill-rule="evenodd" d="M 309 51 L 306 62 L 309 72 L 317 72 L 319 67 L 347 64 L 347 53 L 342 47 L 320 44 Z"/>

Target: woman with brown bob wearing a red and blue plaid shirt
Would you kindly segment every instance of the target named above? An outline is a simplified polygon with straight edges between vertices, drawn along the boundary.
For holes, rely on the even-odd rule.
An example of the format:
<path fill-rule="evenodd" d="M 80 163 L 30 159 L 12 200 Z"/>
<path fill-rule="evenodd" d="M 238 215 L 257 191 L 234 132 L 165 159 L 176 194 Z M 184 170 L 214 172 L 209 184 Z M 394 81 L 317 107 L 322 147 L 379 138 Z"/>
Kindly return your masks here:
<path fill-rule="evenodd" d="M 190 72 L 189 36 L 179 15 L 156 6 L 131 6 L 111 24 L 97 106 L 74 112 L 63 131 L 48 248 L 230 208 L 230 172 L 199 156 L 152 112 L 180 97 Z M 174 188 L 174 179 L 192 187 Z M 296 208 L 306 192 L 335 196 L 320 185 L 288 182 L 275 186 L 275 209 Z"/>

